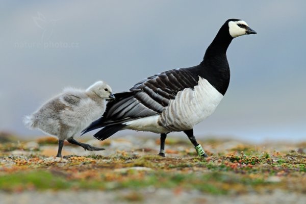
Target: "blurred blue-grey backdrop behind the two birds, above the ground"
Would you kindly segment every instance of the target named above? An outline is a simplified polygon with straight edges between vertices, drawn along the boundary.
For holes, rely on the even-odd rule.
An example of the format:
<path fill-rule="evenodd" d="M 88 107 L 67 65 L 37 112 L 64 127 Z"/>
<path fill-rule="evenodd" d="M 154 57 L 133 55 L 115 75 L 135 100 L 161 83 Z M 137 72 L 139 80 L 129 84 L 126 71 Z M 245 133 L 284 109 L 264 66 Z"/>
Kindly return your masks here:
<path fill-rule="evenodd" d="M 2 1 L 0 132 L 43 135 L 22 118 L 64 87 L 105 80 L 121 92 L 155 73 L 197 65 L 224 21 L 239 18 L 258 34 L 228 48 L 230 86 L 195 136 L 305 140 L 305 8 L 305 1 L 279 0 Z M 159 137 L 117 135 L 126 134 Z"/>

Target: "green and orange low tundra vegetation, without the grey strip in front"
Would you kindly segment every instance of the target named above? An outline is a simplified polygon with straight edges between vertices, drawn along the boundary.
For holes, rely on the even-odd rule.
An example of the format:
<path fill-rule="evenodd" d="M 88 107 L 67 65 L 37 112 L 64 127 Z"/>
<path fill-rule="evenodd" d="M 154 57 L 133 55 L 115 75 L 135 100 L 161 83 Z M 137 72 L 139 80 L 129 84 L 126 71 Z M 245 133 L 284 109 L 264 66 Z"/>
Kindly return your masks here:
<path fill-rule="evenodd" d="M 170 189 L 211 195 L 306 193 L 306 143 L 249 144 L 233 140 L 201 140 L 208 158 L 197 156 L 188 138 L 169 137 L 166 157 L 157 156 L 159 138 L 121 137 L 90 140 L 104 151 L 84 151 L 68 142 L 63 158 L 55 158 L 57 139 L 0 143 L 0 190 Z M 81 139 L 82 140 L 82 139 Z M 86 141 L 83 139 L 83 141 Z M 53 155 L 53 156 L 52 156 Z M 137 194 L 131 199 L 142 199 Z M 130 199 L 130 198 L 126 198 Z"/>

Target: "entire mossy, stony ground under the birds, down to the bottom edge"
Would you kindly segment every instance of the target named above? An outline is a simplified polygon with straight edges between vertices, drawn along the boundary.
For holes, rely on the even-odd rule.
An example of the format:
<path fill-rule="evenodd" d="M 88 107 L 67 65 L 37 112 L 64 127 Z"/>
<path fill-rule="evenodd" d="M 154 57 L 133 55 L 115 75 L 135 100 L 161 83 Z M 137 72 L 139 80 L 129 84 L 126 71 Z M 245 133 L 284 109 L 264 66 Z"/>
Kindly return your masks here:
<path fill-rule="evenodd" d="M 0 203 L 306 203 L 306 143 L 203 140 L 198 158 L 187 138 L 126 136 L 85 141 L 0 138 Z M 80 138 L 76 138 L 80 140 Z M 84 141 L 83 141 L 84 142 Z"/>

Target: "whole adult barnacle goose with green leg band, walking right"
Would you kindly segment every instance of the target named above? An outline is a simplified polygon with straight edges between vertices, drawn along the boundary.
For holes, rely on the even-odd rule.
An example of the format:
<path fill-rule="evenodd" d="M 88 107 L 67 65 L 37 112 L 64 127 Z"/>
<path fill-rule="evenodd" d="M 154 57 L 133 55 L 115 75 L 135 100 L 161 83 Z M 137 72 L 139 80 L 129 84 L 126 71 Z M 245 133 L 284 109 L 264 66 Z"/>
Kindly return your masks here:
<path fill-rule="evenodd" d="M 228 19 L 196 66 L 165 71 L 148 77 L 129 91 L 116 93 L 103 117 L 83 134 L 100 127 L 94 138 L 105 140 L 114 133 L 131 129 L 161 134 L 160 156 L 165 156 L 165 139 L 170 132 L 183 131 L 197 153 L 207 157 L 193 135 L 193 126 L 210 116 L 230 83 L 226 50 L 238 36 L 256 34 L 239 19 Z"/>

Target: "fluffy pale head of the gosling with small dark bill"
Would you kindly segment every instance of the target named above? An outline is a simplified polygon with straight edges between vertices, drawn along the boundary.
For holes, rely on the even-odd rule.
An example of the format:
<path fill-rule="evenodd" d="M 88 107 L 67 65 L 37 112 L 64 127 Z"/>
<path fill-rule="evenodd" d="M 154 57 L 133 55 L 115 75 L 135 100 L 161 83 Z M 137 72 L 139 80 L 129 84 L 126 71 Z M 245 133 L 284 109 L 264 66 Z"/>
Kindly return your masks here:
<path fill-rule="evenodd" d="M 112 88 L 103 81 L 98 81 L 88 87 L 87 92 L 92 91 L 97 94 L 100 98 L 105 98 L 107 100 L 114 100 L 115 96 L 112 93 Z"/>

